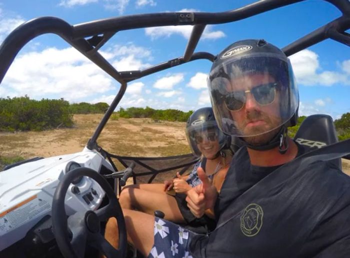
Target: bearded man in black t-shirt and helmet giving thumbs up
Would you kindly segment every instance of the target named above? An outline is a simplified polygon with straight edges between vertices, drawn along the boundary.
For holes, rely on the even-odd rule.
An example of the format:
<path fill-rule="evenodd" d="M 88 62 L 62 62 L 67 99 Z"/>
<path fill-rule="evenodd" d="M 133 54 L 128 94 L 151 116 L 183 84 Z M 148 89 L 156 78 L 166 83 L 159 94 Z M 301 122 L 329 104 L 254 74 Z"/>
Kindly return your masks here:
<path fill-rule="evenodd" d="M 214 60 L 208 86 L 219 128 L 245 142 L 220 193 L 187 192 L 194 216 L 211 209 L 209 235 L 125 211 L 130 242 L 148 257 L 350 257 L 350 177 L 332 163 L 295 163 L 307 150 L 287 137 L 298 90 L 288 58 L 264 40 L 243 40 Z"/>

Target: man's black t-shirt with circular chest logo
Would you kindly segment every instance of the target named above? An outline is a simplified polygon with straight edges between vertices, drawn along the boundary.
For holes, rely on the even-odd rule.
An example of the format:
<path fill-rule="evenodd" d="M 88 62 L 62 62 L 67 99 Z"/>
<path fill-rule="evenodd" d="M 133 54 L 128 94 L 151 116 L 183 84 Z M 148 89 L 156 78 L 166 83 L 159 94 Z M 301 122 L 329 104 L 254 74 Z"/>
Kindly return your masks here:
<path fill-rule="evenodd" d="M 350 257 L 350 177 L 323 161 L 278 168 L 251 166 L 246 148 L 234 155 L 217 227 L 192 238 L 193 257 Z"/>

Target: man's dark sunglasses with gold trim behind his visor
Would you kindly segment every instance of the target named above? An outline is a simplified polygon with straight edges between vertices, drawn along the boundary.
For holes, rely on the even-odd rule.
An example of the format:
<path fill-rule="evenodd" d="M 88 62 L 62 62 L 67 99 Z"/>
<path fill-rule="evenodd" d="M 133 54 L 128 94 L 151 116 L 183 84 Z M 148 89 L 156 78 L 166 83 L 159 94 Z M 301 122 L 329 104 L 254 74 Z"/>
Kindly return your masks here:
<path fill-rule="evenodd" d="M 276 96 L 276 82 L 258 85 L 250 90 L 232 91 L 224 96 L 226 107 L 230 111 L 238 111 L 243 108 L 246 93 L 250 92 L 259 105 L 271 104 Z"/>

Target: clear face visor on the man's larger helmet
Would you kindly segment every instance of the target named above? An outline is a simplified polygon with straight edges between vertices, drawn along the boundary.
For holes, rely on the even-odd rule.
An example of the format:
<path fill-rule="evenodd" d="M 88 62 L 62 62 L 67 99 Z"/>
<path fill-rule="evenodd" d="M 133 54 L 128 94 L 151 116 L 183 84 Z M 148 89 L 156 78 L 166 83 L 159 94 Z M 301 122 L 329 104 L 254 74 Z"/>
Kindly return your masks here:
<path fill-rule="evenodd" d="M 222 62 L 210 72 L 208 87 L 219 128 L 238 137 L 278 129 L 299 102 L 289 61 L 273 55 Z"/>

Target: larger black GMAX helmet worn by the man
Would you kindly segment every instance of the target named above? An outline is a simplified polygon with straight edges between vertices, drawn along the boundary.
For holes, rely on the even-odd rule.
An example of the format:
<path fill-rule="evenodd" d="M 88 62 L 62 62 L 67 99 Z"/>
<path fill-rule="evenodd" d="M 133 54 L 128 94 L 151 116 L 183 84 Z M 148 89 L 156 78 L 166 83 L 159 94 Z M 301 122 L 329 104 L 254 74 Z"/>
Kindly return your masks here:
<path fill-rule="evenodd" d="M 225 134 L 249 137 L 295 125 L 299 95 L 289 59 L 265 40 L 241 40 L 225 48 L 212 64 L 208 87 L 218 127 Z M 248 93 L 260 106 L 275 106 L 268 114 L 274 123 L 266 129 L 249 131 L 237 122 L 236 111 L 243 108 Z"/>

